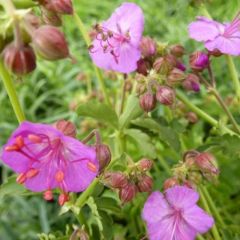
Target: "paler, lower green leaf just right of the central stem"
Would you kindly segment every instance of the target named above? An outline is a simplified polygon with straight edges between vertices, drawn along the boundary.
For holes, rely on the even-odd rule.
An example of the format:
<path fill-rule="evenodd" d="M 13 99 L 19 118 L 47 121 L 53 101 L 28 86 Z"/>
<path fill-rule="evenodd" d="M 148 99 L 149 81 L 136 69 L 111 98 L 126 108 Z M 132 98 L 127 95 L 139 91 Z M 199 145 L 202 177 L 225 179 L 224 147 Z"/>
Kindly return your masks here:
<path fill-rule="evenodd" d="M 125 130 L 125 134 L 131 137 L 137 143 L 139 151 L 143 154 L 143 156 L 150 158 L 156 157 L 156 149 L 151 143 L 150 137 L 146 133 L 139 129 L 132 128 Z"/>

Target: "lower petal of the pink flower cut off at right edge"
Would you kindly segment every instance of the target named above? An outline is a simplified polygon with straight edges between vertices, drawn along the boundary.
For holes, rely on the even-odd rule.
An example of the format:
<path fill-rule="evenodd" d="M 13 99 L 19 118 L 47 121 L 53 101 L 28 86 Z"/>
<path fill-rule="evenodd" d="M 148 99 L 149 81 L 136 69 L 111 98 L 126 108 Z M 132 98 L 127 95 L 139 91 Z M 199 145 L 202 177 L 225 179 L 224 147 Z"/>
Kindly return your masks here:
<path fill-rule="evenodd" d="M 238 37 L 237 33 L 234 37 L 229 38 L 218 36 L 213 41 L 207 41 L 205 47 L 209 51 L 218 49 L 221 53 L 238 56 L 240 55 L 240 37 Z"/>

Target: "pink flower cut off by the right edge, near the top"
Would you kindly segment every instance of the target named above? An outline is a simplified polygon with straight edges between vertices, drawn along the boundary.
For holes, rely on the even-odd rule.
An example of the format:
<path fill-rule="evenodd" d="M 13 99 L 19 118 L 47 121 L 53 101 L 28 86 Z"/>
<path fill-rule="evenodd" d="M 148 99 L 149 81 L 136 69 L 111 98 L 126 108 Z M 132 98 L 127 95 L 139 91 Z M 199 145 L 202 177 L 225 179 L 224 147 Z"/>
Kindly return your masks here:
<path fill-rule="evenodd" d="M 229 55 L 240 55 L 240 13 L 230 24 L 222 24 L 206 17 L 198 17 L 189 27 L 191 38 L 204 42 L 209 51 L 219 50 Z"/>

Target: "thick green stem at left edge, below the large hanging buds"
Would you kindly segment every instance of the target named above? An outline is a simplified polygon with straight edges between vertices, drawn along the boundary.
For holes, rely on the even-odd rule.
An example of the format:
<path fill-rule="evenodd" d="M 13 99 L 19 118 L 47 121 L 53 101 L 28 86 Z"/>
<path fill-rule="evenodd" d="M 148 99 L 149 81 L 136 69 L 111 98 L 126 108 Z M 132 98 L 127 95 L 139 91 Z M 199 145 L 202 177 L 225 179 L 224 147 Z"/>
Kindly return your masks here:
<path fill-rule="evenodd" d="M 4 66 L 4 63 L 2 60 L 0 60 L 0 77 L 2 78 L 4 87 L 7 91 L 8 97 L 10 99 L 10 102 L 12 104 L 12 108 L 14 110 L 14 113 L 18 119 L 18 122 L 21 123 L 25 120 L 24 113 L 22 111 L 21 105 L 18 101 L 17 93 L 12 81 L 12 78 L 7 71 L 7 69 Z"/>

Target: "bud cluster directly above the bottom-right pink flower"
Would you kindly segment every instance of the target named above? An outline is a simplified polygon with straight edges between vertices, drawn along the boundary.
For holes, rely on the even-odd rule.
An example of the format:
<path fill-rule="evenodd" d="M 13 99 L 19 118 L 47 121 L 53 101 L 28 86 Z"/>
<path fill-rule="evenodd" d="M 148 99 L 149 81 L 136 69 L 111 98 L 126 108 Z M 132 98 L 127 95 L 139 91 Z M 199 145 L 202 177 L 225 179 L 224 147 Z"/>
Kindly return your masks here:
<path fill-rule="evenodd" d="M 216 180 L 219 174 L 216 160 L 209 152 L 187 151 L 183 156 L 183 161 L 178 164 L 173 171 L 173 177 L 164 182 L 164 190 L 175 185 L 186 185 L 194 188 L 203 180 Z"/>

